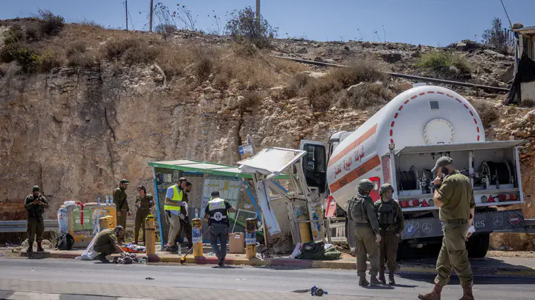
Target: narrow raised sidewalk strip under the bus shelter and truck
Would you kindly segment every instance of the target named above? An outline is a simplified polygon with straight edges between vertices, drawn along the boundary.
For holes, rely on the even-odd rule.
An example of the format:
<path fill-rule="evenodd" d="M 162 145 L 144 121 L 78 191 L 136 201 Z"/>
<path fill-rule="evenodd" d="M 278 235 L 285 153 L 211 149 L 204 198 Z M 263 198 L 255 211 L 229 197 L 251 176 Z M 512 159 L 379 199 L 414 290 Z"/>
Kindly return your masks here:
<path fill-rule="evenodd" d="M 186 249 L 182 251 L 182 256 L 186 254 Z M 194 258 L 191 254 L 186 257 L 186 264 L 217 264 L 216 256 L 208 255 L 211 251 L 205 245 L 204 256 Z M 73 249 L 70 251 L 47 251 L 43 253 L 34 252 L 32 258 L 64 258 L 74 259 L 82 255 L 84 249 Z M 20 256 L 27 256 L 23 251 Z M 113 254 L 112 257 L 119 256 Z M 138 254 L 139 257 L 145 254 Z M 182 256 L 175 253 L 160 251 L 158 258 L 153 258 L 149 262 L 179 263 Z M 353 256 L 343 253 L 339 260 L 297 260 L 288 256 L 275 256 L 259 260 L 258 258 L 245 258 L 245 254 L 227 254 L 225 264 L 247 265 L 251 267 L 292 267 L 297 269 L 356 269 L 356 260 Z M 474 275 L 515 275 L 535 277 L 535 258 L 480 258 L 471 260 Z M 399 262 L 399 271 L 403 273 L 436 273 L 435 260 L 404 260 Z"/>

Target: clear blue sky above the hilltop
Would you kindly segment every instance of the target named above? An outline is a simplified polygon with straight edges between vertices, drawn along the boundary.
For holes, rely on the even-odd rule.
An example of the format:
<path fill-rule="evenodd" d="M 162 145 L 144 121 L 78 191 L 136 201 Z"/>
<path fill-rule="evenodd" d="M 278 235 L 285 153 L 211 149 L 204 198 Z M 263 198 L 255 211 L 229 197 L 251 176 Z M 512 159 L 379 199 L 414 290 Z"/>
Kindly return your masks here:
<path fill-rule="evenodd" d="M 221 16 L 232 10 L 255 7 L 256 0 L 160 0 L 175 8 L 186 5 L 197 18 L 199 29 L 214 24 L 208 15 Z M 158 0 L 154 0 L 157 3 Z M 23 4 L 24 3 L 24 4 Z M 84 19 L 102 25 L 125 28 L 124 0 L 0 0 L 0 19 L 35 16 L 38 8 L 52 10 L 66 21 Z M 135 29 L 148 23 L 149 0 L 129 0 L 129 14 Z M 535 26 L 535 0 L 503 0 L 512 23 Z M 141 12 L 141 14 L 139 13 Z M 279 37 L 305 36 L 311 40 L 386 40 L 446 46 L 451 42 L 481 40 L 484 29 L 498 16 L 508 21 L 499 0 L 262 0 L 262 16 L 279 27 Z M 157 21 L 157 19 L 156 19 Z M 180 25 L 179 22 L 177 22 Z M 384 27 L 384 31 L 383 31 Z M 360 29 L 360 31 L 358 30 Z M 373 29 L 377 35 L 373 35 Z M 386 33 L 386 34 L 385 34 Z"/>

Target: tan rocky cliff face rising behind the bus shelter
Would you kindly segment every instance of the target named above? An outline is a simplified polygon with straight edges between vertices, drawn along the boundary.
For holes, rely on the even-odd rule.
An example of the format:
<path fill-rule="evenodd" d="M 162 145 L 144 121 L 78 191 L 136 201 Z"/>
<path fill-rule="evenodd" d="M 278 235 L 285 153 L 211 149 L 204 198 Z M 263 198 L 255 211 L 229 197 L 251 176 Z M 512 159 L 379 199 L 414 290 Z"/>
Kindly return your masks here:
<path fill-rule="evenodd" d="M 180 46 L 191 38 L 199 36 L 177 33 L 174 42 Z M 208 37 L 205 42 L 225 46 L 224 39 Z M 277 43 L 275 54 L 323 57 L 343 64 L 369 52 L 382 57 L 382 64 L 395 71 L 414 69 L 416 55 L 412 53 L 430 51 L 404 44 Z M 480 83 L 499 81 L 510 62 L 509 57 L 483 59 L 494 54 L 482 50 L 467 54 L 475 63 L 482 61 L 476 67 L 481 76 L 475 76 Z M 130 180 L 127 193 L 131 196 L 136 193 L 133 187 L 140 184 L 153 193 L 149 161 L 196 159 L 234 164 L 238 145 L 247 135 L 257 150 L 265 146 L 295 148 L 300 139 L 326 143 L 329 131 L 353 131 L 381 106 L 377 102 L 362 110 L 334 105 L 317 111 L 303 94 L 285 94 L 294 74 L 273 66 L 275 59 L 263 59 L 270 66 L 265 72 L 277 76 L 256 87 L 236 80 L 221 87 L 217 74 L 201 81 L 188 71 L 171 82 L 156 64 L 113 62 L 101 62 L 92 70 L 62 66 L 46 74 L 0 77 L 0 220 L 25 218 L 23 198 L 33 185 L 40 185 L 51 200 L 46 217 L 53 219 L 65 200 L 94 202 L 97 195 L 110 194 L 121 178 Z M 296 63 L 293 68 L 307 70 L 308 66 Z M 325 70 L 314 71 L 307 76 L 319 77 L 317 71 Z M 245 74 L 253 74 L 253 70 Z M 364 85 L 378 85 L 392 94 L 410 87 L 399 81 Z M 503 95 L 454 90 L 497 112 L 489 119 L 488 139 L 506 139 L 512 132 L 532 138 L 532 131 L 523 134 L 508 126 L 529 109 L 503 107 L 498 102 Z M 535 188 L 530 183 L 530 153 L 523 156 L 522 169 L 527 194 Z M 534 215 L 530 198 L 526 200 L 525 213 Z"/>

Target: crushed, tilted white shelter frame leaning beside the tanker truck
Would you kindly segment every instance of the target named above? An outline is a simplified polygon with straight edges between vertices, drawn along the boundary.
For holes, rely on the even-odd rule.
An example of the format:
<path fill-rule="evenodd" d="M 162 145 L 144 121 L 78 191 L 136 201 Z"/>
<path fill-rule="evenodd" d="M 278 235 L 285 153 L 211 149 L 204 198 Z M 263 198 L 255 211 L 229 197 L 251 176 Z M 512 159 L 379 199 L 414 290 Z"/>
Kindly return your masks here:
<path fill-rule="evenodd" d="M 261 191 L 267 185 L 271 190 L 279 193 L 286 199 L 288 208 L 288 219 L 290 221 L 290 233 L 294 243 L 301 243 L 299 234 L 299 223 L 310 223 L 310 233 L 313 241 L 325 240 L 325 228 L 323 223 L 328 222 L 324 218 L 323 199 L 319 194 L 319 189 L 310 188 L 306 184 L 306 177 L 301 166 L 301 157 L 306 151 L 287 148 L 264 148 L 251 159 L 238 162 L 239 169 L 253 176 L 255 189 Z M 290 184 L 294 191 L 287 191 L 273 180 L 278 174 L 282 174 L 284 169 L 290 174 Z M 260 196 L 260 195 L 259 195 Z M 273 199 L 276 196 L 270 196 Z M 260 197 L 259 197 L 260 199 Z M 269 208 L 269 201 L 259 201 L 264 208 Z M 269 209 L 271 210 L 271 209 Z M 269 223 L 266 222 L 269 226 Z M 328 225 L 325 225 L 328 228 Z M 273 228 L 271 229 L 273 231 Z M 327 239 L 331 240 L 330 232 L 327 230 Z"/>

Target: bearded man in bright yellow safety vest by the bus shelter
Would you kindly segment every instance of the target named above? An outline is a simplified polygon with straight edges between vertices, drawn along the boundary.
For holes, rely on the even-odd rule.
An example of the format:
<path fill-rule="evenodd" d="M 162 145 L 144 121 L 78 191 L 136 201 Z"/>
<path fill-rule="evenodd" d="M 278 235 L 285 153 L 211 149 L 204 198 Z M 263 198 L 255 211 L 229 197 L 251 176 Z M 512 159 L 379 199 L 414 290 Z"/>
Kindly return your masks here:
<path fill-rule="evenodd" d="M 176 185 L 167 189 L 165 197 L 165 216 L 167 223 L 169 223 L 169 234 L 167 236 L 166 251 L 178 251 L 176 242 L 177 234 L 180 232 L 180 210 L 184 205 L 182 201 L 184 198 L 184 187 L 186 187 L 186 178 L 181 177 Z"/>

